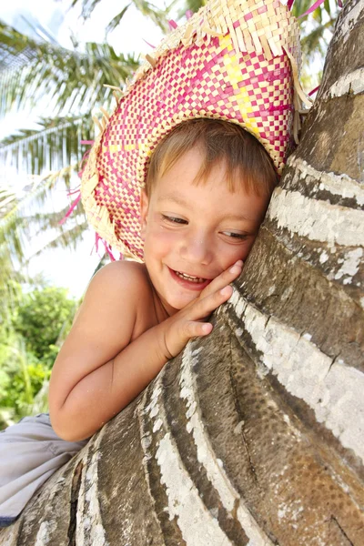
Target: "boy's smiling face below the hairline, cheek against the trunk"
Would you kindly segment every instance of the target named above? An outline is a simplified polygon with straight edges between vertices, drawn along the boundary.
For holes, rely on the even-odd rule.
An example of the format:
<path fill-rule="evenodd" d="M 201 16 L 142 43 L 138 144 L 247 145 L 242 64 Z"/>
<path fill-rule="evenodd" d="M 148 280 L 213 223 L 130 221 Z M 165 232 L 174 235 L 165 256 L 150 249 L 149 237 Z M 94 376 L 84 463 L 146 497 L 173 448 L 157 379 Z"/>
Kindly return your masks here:
<path fill-rule="evenodd" d="M 195 148 L 141 197 L 144 258 L 169 315 L 197 298 L 213 278 L 245 260 L 258 234 L 269 197 L 233 193 L 223 163 L 206 181 L 194 182 L 203 160 Z"/>

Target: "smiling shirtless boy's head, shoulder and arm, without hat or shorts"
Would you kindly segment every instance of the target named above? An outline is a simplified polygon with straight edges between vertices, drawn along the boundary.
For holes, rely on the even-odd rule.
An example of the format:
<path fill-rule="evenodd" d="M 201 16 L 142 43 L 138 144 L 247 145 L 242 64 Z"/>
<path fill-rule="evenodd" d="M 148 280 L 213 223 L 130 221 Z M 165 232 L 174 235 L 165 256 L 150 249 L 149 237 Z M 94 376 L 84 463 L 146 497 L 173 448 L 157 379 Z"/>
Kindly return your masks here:
<path fill-rule="evenodd" d="M 134 399 L 232 294 L 277 182 L 258 140 L 221 120 L 187 121 L 151 159 L 141 194 L 144 264 L 92 280 L 56 359 L 52 425 L 83 440 Z"/>

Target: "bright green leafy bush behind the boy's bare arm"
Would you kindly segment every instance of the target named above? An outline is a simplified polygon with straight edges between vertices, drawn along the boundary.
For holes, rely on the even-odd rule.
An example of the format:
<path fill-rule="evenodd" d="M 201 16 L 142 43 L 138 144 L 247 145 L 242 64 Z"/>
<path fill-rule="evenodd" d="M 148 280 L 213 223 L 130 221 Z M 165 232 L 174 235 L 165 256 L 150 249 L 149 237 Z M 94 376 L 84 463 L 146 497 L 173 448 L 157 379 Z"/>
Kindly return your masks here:
<path fill-rule="evenodd" d="M 46 410 L 51 368 L 76 311 L 65 288 L 17 292 L 20 303 L 0 324 L 0 429 Z"/>

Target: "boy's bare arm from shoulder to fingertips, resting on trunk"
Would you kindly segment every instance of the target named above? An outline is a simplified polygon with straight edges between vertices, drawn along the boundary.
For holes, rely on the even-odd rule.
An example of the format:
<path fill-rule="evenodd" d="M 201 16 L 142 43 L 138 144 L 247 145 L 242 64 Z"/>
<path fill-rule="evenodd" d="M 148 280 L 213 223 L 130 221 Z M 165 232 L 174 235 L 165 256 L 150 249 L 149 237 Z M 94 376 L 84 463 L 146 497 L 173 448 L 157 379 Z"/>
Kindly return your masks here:
<path fill-rule="evenodd" d="M 136 309 L 144 307 L 140 298 L 150 298 L 147 284 L 136 282 L 135 266 L 125 268 L 121 280 L 119 271 L 116 278 L 110 269 L 101 278 L 100 271 L 56 359 L 49 407 L 56 433 L 66 440 L 91 436 L 135 399 L 188 339 L 207 335 L 212 325 L 200 319 L 230 297 L 227 285 L 241 271 L 241 266 L 225 271 L 186 308 L 131 340 Z"/>

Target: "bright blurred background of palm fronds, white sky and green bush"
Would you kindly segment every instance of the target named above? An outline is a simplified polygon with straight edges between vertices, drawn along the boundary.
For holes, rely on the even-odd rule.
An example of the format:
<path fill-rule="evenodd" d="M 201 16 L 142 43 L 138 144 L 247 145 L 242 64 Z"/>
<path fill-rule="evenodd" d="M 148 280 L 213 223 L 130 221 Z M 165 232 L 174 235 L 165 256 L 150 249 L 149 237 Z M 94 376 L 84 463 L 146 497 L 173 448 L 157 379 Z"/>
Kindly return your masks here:
<path fill-rule="evenodd" d="M 296 0 L 292 11 L 302 15 L 311 4 Z M 122 88 L 169 21 L 183 24 L 201 5 L 12 0 L 0 7 L 0 429 L 47 410 L 56 354 L 90 278 L 110 259 L 76 203 L 83 142 L 95 138 L 99 107 L 115 104 L 104 85 Z M 307 93 L 319 86 L 338 10 L 325 0 L 299 18 Z"/>

